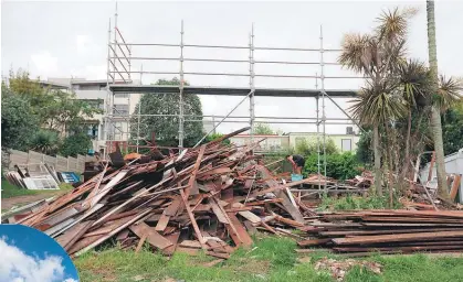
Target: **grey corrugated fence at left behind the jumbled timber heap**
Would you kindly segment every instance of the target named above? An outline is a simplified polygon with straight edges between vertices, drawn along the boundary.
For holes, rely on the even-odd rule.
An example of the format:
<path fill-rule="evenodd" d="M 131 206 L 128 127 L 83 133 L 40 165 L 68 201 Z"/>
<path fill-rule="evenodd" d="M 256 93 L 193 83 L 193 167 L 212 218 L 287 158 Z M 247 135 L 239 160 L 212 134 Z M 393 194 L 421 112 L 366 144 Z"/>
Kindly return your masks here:
<path fill-rule="evenodd" d="M 41 164 L 53 165 L 57 172 L 76 172 L 83 173 L 85 169 L 85 162 L 94 160 L 90 155 L 77 155 L 77 158 L 64 158 L 61 155 L 51 156 L 34 151 L 28 153 L 11 150 L 10 151 L 10 170 L 14 165 L 20 167 L 27 166 L 30 171 L 40 170 Z"/>

